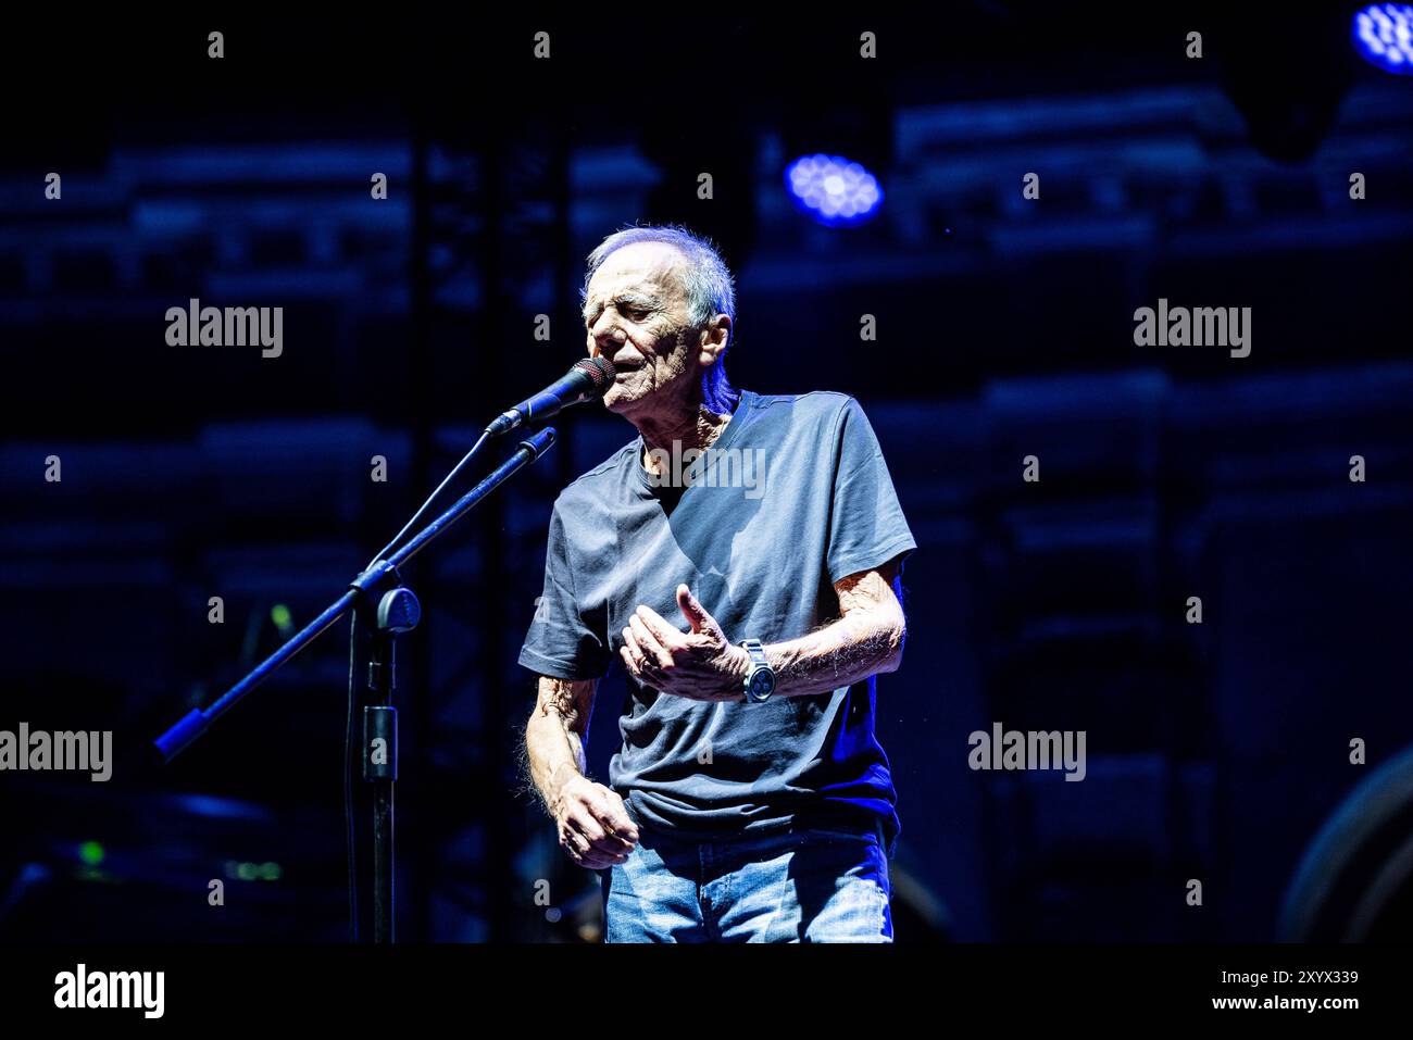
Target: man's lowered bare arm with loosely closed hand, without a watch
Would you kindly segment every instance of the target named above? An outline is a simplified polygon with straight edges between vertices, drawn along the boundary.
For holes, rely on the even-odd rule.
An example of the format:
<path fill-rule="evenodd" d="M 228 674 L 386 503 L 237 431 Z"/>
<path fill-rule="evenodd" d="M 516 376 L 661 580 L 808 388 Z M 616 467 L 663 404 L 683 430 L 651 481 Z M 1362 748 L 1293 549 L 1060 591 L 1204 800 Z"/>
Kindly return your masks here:
<path fill-rule="evenodd" d="M 530 780 L 555 821 L 561 848 L 591 870 L 622 863 L 637 841 L 623 800 L 585 776 L 584 740 L 596 690 L 598 680 L 540 675 L 526 723 Z"/>

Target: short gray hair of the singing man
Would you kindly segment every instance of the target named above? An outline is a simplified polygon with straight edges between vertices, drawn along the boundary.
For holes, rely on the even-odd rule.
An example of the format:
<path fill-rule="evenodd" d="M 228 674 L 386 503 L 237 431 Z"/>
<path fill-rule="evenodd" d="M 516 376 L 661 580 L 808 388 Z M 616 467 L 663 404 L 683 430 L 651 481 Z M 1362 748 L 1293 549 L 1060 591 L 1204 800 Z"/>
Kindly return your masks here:
<path fill-rule="evenodd" d="M 603 239 L 589 253 L 584 287 L 579 290 L 579 302 L 588 300 L 589 280 L 603 266 L 603 261 L 623 246 L 639 242 L 661 242 L 687 257 L 681 273 L 682 287 L 687 290 L 688 319 L 692 328 L 699 329 L 718 314 L 725 314 L 731 318 L 731 331 L 726 339 L 729 346 L 731 341 L 735 339 L 736 328 L 736 285 L 731 270 L 709 239 L 698 237 L 678 225 L 623 228 Z M 740 400 L 740 391 L 726 380 L 725 362 L 726 350 L 723 348 L 716 355 L 716 363 L 702 373 L 702 404 L 719 415 L 729 415 Z"/>

